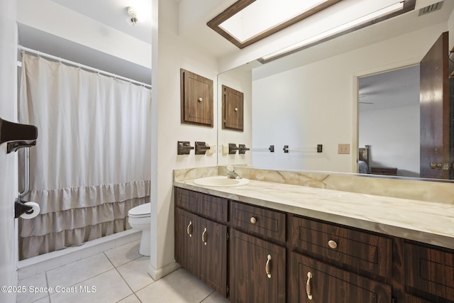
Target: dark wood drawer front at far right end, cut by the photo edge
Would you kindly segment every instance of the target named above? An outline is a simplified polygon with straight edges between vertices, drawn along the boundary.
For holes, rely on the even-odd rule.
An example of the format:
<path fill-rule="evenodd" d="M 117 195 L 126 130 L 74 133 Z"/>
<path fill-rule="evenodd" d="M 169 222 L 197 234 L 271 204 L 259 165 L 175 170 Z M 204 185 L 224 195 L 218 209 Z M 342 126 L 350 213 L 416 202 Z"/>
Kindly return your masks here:
<path fill-rule="evenodd" d="M 435 295 L 454 302 L 454 253 L 405 243 L 404 255 L 405 285 L 412 293 L 431 301 Z"/>

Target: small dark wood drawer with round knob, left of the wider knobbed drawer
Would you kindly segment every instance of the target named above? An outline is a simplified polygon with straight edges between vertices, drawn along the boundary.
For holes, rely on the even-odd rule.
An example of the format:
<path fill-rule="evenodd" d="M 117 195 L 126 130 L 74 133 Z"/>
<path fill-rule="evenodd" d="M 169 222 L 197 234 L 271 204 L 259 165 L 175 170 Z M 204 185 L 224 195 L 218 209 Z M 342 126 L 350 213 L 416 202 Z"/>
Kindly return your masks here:
<path fill-rule="evenodd" d="M 240 230 L 285 242 L 285 214 L 279 211 L 231 202 L 231 220 Z"/>

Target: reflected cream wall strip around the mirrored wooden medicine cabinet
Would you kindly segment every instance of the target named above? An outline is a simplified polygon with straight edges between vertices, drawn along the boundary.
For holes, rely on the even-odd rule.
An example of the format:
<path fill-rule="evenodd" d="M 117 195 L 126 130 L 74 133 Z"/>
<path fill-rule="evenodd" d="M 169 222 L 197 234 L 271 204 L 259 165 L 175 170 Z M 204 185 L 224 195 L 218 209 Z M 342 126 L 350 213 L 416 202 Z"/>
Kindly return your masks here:
<path fill-rule="evenodd" d="M 252 163 L 252 151 L 248 150 L 244 155 L 238 152 L 235 155 L 226 155 L 222 152 L 221 145 L 228 143 L 245 144 L 252 149 L 252 72 L 250 70 L 236 69 L 218 75 L 218 117 L 222 115 L 222 84 L 236 89 L 244 94 L 244 124 L 243 131 L 222 129 L 222 121 L 218 123 L 218 165 L 250 165 Z"/>

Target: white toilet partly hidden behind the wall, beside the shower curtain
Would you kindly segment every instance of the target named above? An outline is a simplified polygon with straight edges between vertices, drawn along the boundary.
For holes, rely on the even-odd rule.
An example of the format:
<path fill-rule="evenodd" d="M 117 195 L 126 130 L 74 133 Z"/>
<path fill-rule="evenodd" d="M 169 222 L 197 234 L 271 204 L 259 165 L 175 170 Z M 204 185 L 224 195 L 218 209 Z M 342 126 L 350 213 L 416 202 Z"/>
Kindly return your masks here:
<path fill-rule="evenodd" d="M 140 204 L 128 211 L 128 222 L 132 228 L 142 231 L 142 239 L 140 240 L 140 255 L 150 255 L 150 215 L 151 203 Z"/>

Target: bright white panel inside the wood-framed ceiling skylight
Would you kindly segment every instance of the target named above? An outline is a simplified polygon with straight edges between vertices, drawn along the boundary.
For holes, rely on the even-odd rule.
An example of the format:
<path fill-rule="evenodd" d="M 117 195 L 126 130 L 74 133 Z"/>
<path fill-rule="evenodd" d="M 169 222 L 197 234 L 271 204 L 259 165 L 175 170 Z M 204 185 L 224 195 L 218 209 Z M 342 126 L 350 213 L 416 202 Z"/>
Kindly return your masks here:
<path fill-rule="evenodd" d="M 219 27 L 244 43 L 329 0 L 256 0 Z"/>

